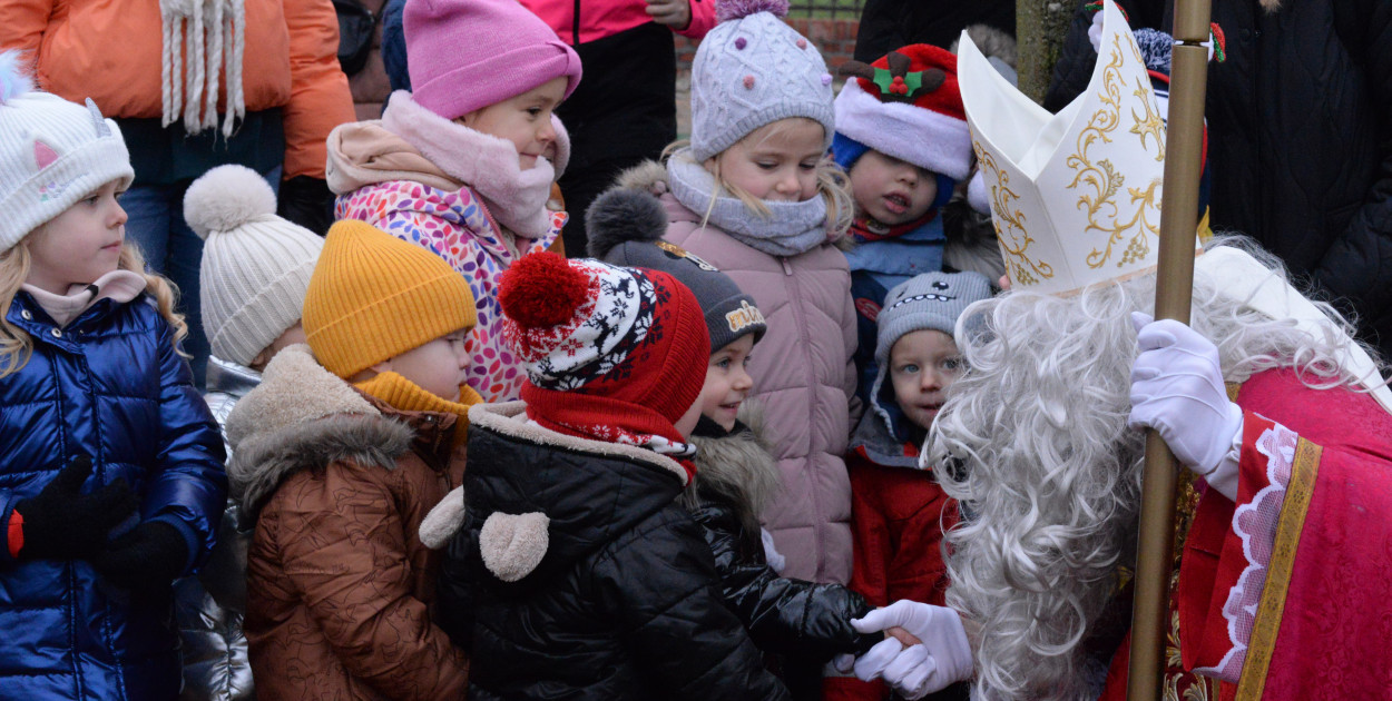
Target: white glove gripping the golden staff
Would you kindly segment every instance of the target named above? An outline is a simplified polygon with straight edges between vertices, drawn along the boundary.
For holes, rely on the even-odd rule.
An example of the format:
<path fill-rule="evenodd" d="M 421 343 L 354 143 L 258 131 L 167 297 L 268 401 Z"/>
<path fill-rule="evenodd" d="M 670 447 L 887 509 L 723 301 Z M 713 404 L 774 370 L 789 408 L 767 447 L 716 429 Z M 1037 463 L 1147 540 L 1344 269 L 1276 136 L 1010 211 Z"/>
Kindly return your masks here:
<path fill-rule="evenodd" d="M 1179 462 L 1233 498 L 1242 409 L 1228 401 L 1218 346 L 1175 320 L 1132 312 L 1132 325 L 1140 356 L 1132 366 L 1128 424 L 1158 431 Z"/>

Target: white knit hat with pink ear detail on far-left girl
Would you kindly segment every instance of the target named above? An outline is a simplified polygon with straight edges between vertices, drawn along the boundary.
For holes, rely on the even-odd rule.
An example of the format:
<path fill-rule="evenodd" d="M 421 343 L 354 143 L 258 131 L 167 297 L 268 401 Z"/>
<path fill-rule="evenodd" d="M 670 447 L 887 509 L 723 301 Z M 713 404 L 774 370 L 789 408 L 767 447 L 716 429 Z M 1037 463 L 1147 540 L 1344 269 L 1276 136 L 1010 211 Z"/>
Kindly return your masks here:
<path fill-rule="evenodd" d="M 92 100 L 35 90 L 19 54 L 0 53 L 0 252 L 102 185 L 134 178 L 121 129 Z"/>

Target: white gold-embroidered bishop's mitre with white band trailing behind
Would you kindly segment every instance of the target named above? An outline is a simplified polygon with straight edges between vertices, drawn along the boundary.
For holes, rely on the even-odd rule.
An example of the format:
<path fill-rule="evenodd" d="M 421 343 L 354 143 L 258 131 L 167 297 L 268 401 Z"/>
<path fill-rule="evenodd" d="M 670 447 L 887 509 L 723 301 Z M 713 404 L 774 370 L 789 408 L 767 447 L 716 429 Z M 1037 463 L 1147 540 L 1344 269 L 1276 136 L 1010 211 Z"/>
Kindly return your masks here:
<path fill-rule="evenodd" d="M 1130 26 L 1111 0 L 1102 3 L 1098 46 L 1087 89 L 1050 114 L 1001 78 L 962 32 L 958 85 L 1012 289 L 1070 295 L 1148 273 L 1158 261 L 1165 114 Z M 1194 275 L 1271 319 L 1343 335 L 1242 250 L 1199 256 Z M 1392 389 L 1373 359 L 1357 344 L 1345 348 L 1340 364 L 1392 412 Z"/>

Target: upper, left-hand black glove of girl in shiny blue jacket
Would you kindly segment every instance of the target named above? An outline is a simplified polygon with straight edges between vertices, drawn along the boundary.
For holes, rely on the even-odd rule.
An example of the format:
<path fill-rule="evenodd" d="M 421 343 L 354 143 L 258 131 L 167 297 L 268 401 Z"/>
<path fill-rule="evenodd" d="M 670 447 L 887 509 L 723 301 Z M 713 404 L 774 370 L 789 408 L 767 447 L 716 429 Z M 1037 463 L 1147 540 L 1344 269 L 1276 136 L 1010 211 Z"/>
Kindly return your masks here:
<path fill-rule="evenodd" d="M 99 552 L 111 529 L 139 506 L 125 480 L 82 494 L 92 458 L 79 455 L 36 497 L 15 503 L 24 520 L 21 559 L 78 559 Z M 11 516 L 13 517 L 13 516 Z"/>

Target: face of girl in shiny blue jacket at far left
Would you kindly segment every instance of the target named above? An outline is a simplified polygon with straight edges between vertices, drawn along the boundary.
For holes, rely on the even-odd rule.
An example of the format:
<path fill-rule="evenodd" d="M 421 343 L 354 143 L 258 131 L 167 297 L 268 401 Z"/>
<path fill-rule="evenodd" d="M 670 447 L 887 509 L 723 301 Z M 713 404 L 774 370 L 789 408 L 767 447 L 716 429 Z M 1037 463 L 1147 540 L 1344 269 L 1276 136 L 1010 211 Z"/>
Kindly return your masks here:
<path fill-rule="evenodd" d="M 117 202 L 121 182 L 111 181 L 75 202 L 25 236 L 29 282 L 56 295 L 71 285 L 90 285 L 116 270 L 125 242 L 125 210 Z"/>

